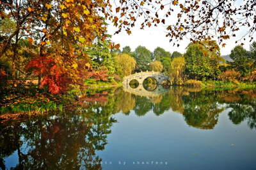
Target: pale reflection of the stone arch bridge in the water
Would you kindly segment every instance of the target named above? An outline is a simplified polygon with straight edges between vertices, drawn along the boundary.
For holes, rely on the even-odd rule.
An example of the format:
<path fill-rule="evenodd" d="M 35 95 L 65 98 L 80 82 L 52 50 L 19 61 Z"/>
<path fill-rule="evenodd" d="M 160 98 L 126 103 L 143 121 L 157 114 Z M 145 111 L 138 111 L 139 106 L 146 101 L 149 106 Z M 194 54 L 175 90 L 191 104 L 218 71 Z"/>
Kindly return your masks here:
<path fill-rule="evenodd" d="M 163 88 L 160 84 L 154 84 L 154 86 L 139 84 L 137 88 L 131 88 L 129 84 L 123 84 L 123 87 L 125 92 L 141 97 L 159 97 L 170 90 L 170 87 Z"/>

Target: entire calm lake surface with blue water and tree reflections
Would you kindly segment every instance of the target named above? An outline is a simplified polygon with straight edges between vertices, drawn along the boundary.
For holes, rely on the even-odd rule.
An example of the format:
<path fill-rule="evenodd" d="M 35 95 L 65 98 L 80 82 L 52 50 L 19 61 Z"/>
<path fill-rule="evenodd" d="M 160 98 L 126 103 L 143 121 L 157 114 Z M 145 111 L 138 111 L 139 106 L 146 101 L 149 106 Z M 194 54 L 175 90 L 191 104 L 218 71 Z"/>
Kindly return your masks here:
<path fill-rule="evenodd" d="M 256 90 L 142 88 L 1 123 L 1 169 L 256 169 Z"/>

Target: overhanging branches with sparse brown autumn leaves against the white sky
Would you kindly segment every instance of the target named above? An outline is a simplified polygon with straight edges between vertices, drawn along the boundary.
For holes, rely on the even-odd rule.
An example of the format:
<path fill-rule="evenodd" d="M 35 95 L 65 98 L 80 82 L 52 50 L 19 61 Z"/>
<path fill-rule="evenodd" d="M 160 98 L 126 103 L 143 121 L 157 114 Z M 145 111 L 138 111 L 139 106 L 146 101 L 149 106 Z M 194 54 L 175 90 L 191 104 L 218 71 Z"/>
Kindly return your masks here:
<path fill-rule="evenodd" d="M 202 40 L 218 39 L 223 43 L 231 36 L 236 36 L 237 31 L 246 28 L 242 38 L 248 36 L 253 39 L 255 26 L 255 1 L 246 0 L 239 3 L 237 1 L 120 1 L 115 6 L 116 15 L 109 19 L 114 23 L 120 33 L 125 29 L 131 34 L 132 27 L 135 26 L 138 17 L 143 17 L 141 29 L 144 27 L 166 26 L 166 36 L 170 37 L 170 42 L 178 42 L 184 37 L 193 42 Z M 169 17 L 176 18 L 172 22 Z M 241 37 L 237 38 L 242 40 Z M 174 43 L 174 45 L 175 45 Z"/>

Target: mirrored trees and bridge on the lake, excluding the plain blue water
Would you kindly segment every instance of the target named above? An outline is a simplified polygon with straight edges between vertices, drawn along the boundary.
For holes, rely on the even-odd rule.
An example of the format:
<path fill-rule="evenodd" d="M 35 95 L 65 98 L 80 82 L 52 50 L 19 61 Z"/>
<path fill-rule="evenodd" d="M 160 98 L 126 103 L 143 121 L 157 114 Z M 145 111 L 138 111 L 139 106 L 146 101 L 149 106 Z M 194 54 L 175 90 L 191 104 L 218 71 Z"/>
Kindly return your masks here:
<path fill-rule="evenodd" d="M 15 169 L 102 169 L 95 151 L 108 144 L 116 123 L 113 114 L 118 112 L 134 111 L 137 116 L 178 112 L 190 127 L 209 130 L 229 109 L 232 123 L 247 121 L 256 129 L 255 89 L 142 88 L 140 84 L 136 89 L 91 91 L 93 95 L 82 97 L 72 112 L 1 123 L 1 169 L 6 169 L 8 157 L 17 157 Z"/>

